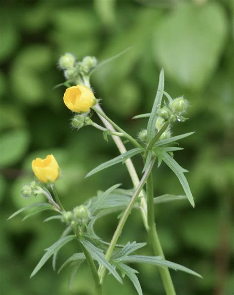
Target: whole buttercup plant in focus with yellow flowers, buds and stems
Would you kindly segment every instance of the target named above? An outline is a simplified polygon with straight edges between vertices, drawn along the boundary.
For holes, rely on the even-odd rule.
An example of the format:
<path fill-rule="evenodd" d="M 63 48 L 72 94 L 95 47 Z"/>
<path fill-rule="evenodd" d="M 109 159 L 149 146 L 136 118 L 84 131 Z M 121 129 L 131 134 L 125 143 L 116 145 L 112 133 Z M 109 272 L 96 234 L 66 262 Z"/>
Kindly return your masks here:
<path fill-rule="evenodd" d="M 71 119 L 72 126 L 79 130 L 90 125 L 102 131 L 105 139 L 107 139 L 108 135 L 112 136 L 120 153 L 116 158 L 95 167 L 86 177 L 90 177 L 112 165 L 125 163 L 133 188 L 124 190 L 120 188 L 119 184 L 113 185 L 104 192 L 98 191 L 96 197 L 91 197 L 84 204 L 77 204 L 74 209 L 70 208 L 69 211 L 66 211 L 55 189 L 55 182 L 60 175 L 60 168 L 56 159 L 53 155 L 48 155 L 43 160 L 39 158 L 33 160 L 32 169 L 36 181 L 33 181 L 30 185 L 25 185 L 22 188 L 22 195 L 24 197 L 37 197 L 38 194 L 43 194 L 48 199 L 48 202 L 36 202 L 26 206 L 12 214 L 9 219 L 28 209 L 30 212 L 24 219 L 41 211 L 51 210 L 56 214 L 48 217 L 46 221 L 58 219 L 64 223 L 65 230 L 58 241 L 46 249 L 31 277 L 40 270 L 51 256 L 53 256 L 52 264 L 55 270 L 58 251 L 68 242 L 76 240 L 80 252 L 73 254 L 58 270 L 58 273 L 60 273 L 65 266 L 73 265 L 69 283 L 70 289 L 79 265 L 86 261 L 91 270 L 96 295 L 102 294 L 102 284 L 107 271 L 119 283 L 122 283 L 121 277 L 126 275 L 132 281 L 136 293 L 142 295 L 141 285 L 136 275 L 138 272 L 132 265 L 129 266 L 128 264 L 149 263 L 158 267 L 165 294 L 175 295 L 176 291 L 169 268 L 181 270 L 198 277 L 201 276 L 185 266 L 165 259 L 156 230 L 154 206 L 162 202 L 185 198 L 188 198 L 193 207 L 195 206 L 189 184 L 184 176 L 184 173 L 188 171 L 173 158 L 174 152 L 182 150 L 173 143 L 192 135 L 194 132 L 171 136 L 173 124 L 176 121 L 184 122 L 187 119 L 182 116 L 186 111 L 187 101 L 183 97 L 173 99 L 164 91 L 164 72 L 162 69 L 151 113 L 141 114 L 133 118 L 149 118 L 146 128 L 139 131 L 137 136 L 134 137 L 121 129 L 104 113 L 98 99 L 94 96 L 89 81 L 92 72 L 100 66 L 95 57 L 88 56 L 79 62 L 74 55 L 66 53 L 59 59 L 59 66 L 64 70 L 64 76 L 67 80 L 58 86 L 64 85 L 67 87 L 64 94 L 64 103 L 75 113 Z M 102 125 L 91 120 L 92 113 L 99 116 Z M 121 137 L 131 144 L 132 148 L 128 151 Z M 142 157 L 142 176 L 140 180 L 130 159 L 137 154 Z M 185 196 L 167 194 L 154 197 L 152 169 L 156 164 L 156 160 L 157 167 L 164 162 L 175 173 L 183 187 Z M 141 243 L 129 241 L 125 245 L 117 243 L 132 209 L 141 212 L 142 221 L 151 243 L 149 246 L 153 248 L 155 256 L 136 254 L 138 249 L 146 246 L 144 241 Z M 117 211 L 121 212 L 120 219 L 111 242 L 108 243 L 95 233 L 94 225 L 99 218 Z"/>

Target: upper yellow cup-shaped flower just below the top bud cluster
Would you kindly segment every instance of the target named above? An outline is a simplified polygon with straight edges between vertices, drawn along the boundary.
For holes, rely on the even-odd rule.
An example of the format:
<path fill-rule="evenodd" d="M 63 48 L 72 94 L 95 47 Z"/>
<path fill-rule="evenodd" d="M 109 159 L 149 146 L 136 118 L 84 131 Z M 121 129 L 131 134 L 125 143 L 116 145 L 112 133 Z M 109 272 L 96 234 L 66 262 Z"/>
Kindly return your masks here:
<path fill-rule="evenodd" d="M 63 101 L 70 110 L 86 113 L 97 100 L 88 87 L 77 85 L 66 89 Z"/>

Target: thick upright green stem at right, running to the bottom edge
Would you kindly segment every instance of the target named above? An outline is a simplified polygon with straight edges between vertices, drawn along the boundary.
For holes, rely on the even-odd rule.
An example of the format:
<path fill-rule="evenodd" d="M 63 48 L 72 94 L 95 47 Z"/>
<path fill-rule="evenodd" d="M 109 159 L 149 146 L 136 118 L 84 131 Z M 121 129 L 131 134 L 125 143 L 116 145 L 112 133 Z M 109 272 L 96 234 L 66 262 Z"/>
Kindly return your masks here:
<path fill-rule="evenodd" d="M 155 256 L 161 256 L 165 259 L 160 240 L 156 230 L 155 224 L 155 209 L 154 209 L 154 186 L 152 173 L 149 175 L 146 182 L 147 190 L 147 207 L 148 207 L 148 235 L 151 240 Z M 174 285 L 171 279 L 168 268 L 159 267 L 160 276 L 162 283 L 167 295 L 176 295 Z"/>

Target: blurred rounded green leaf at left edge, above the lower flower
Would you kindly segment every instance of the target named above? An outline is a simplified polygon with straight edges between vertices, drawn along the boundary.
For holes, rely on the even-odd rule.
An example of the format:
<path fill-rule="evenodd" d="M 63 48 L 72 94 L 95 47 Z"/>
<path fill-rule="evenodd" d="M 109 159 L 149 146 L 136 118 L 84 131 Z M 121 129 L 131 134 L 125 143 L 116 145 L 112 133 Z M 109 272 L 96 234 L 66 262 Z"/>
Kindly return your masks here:
<path fill-rule="evenodd" d="M 1 134 L 0 166 L 9 166 L 19 161 L 27 152 L 29 141 L 29 132 L 24 129 Z"/>

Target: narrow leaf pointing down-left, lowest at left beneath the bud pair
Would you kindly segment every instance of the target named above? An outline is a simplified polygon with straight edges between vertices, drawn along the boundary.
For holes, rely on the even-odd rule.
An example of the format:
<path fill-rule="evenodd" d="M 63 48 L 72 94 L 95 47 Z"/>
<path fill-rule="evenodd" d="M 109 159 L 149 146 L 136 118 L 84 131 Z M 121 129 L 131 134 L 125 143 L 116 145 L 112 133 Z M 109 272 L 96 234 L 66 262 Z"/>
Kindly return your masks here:
<path fill-rule="evenodd" d="M 42 258 L 40 259 L 40 261 L 38 262 L 37 266 L 34 268 L 30 278 L 32 278 L 39 270 L 40 268 L 45 264 L 45 262 L 55 253 L 57 252 L 59 249 L 61 249 L 65 244 L 67 244 L 68 242 L 74 240 L 76 238 L 75 235 L 68 235 L 65 236 L 61 239 L 59 239 L 57 242 L 55 242 L 52 246 L 50 246 L 49 248 L 45 249 L 46 252 L 45 254 L 42 256 Z"/>

